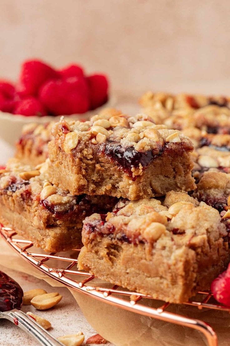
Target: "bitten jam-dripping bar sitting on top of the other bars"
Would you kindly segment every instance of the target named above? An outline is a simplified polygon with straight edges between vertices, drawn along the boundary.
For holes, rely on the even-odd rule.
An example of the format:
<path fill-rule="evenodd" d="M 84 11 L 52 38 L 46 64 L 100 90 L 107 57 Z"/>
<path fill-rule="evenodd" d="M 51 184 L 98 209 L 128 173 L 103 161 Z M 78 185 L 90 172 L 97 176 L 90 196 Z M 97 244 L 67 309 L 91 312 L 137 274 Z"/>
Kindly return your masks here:
<path fill-rule="evenodd" d="M 90 121 L 61 120 L 49 145 L 49 177 L 71 194 L 137 200 L 194 189 L 190 139 L 145 120 L 104 111 Z"/>

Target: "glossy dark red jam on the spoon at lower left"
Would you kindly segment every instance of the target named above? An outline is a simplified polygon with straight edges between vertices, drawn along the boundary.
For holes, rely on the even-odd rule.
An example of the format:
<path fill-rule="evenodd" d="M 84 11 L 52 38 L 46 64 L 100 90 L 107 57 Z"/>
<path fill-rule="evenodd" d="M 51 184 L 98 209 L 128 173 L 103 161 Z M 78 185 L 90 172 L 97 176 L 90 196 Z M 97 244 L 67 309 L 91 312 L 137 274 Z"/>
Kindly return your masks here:
<path fill-rule="evenodd" d="M 0 311 L 21 309 L 23 291 L 19 284 L 0 271 Z M 14 322 L 16 324 L 16 322 Z"/>

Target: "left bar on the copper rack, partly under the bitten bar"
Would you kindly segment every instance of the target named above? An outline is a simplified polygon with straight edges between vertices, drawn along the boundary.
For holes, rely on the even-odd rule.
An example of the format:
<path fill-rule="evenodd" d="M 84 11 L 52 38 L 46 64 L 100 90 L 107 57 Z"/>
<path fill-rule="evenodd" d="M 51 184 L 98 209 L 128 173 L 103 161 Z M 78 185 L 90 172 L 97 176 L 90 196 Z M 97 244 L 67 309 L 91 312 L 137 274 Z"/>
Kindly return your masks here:
<path fill-rule="evenodd" d="M 83 219 L 112 210 L 108 196 L 73 196 L 47 180 L 46 164 L 31 170 L 11 160 L 0 174 L 0 221 L 45 251 L 80 247 Z"/>

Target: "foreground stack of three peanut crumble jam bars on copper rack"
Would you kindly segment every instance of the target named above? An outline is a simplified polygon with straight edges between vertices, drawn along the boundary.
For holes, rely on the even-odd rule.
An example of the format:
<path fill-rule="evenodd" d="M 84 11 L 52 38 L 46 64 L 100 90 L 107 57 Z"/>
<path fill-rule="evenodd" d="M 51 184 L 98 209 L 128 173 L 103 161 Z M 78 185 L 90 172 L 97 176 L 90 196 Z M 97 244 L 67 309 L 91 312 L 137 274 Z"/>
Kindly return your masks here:
<path fill-rule="evenodd" d="M 170 302 L 207 289 L 224 270 L 226 221 L 186 193 L 196 187 L 188 137 L 115 110 L 62 119 L 52 134 L 45 164 L 28 171 L 14 161 L 2 172 L 6 224 L 60 251 L 80 245 L 83 221 L 80 269 Z"/>

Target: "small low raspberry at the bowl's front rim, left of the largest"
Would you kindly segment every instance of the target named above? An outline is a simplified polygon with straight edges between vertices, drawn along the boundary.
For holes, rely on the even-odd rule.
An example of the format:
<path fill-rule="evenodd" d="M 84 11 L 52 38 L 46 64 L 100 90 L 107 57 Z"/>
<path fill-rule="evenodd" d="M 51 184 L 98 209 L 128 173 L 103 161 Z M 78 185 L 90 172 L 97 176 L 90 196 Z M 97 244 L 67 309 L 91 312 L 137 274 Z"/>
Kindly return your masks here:
<path fill-rule="evenodd" d="M 13 113 L 24 115 L 25 117 L 43 117 L 47 115 L 41 102 L 34 97 L 28 97 L 24 100 L 18 101 Z"/>

